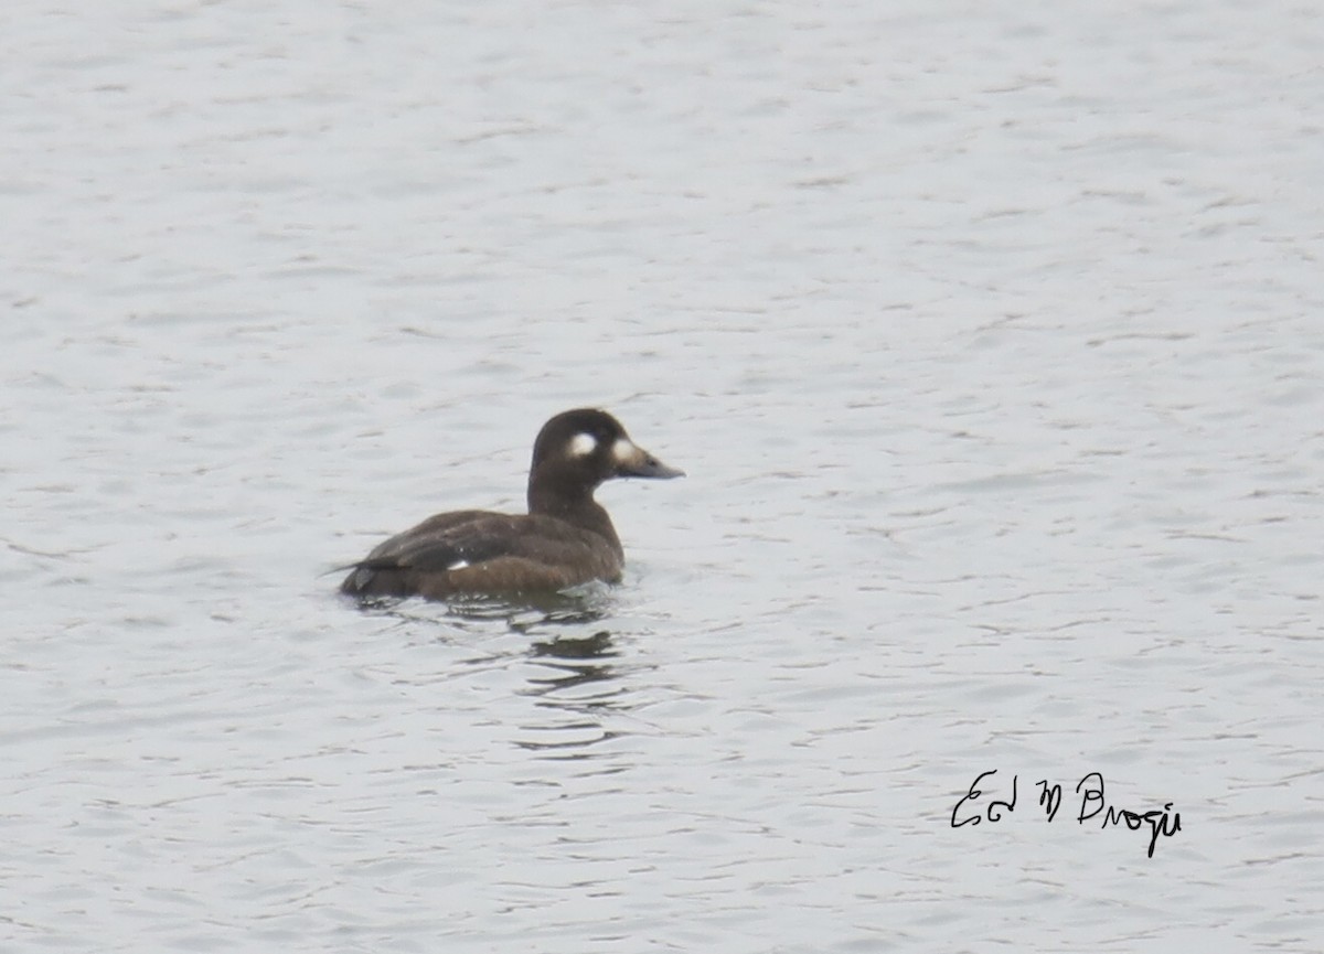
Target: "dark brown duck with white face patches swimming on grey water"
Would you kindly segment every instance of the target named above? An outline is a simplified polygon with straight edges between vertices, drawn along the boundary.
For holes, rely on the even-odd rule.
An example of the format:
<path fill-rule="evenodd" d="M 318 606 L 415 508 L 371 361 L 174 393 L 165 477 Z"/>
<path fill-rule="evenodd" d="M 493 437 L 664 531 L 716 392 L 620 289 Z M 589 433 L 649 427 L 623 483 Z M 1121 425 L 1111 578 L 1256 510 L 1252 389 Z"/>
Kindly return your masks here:
<path fill-rule="evenodd" d="M 625 550 L 593 491 L 616 478 L 671 479 L 685 471 L 639 447 L 605 410 L 556 414 L 534 441 L 528 513 L 437 513 L 342 568 L 340 591 L 359 599 L 512 597 L 592 581 L 616 584 Z"/>

